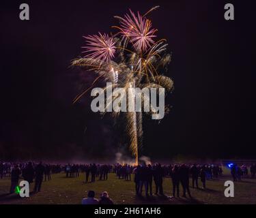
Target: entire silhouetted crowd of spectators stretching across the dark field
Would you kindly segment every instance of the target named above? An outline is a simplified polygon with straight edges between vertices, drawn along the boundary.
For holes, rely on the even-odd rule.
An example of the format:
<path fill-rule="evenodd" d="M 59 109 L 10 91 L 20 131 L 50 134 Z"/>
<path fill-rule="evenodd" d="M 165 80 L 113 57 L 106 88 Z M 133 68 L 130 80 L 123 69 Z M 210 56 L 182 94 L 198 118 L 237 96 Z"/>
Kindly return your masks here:
<path fill-rule="evenodd" d="M 241 181 L 242 176 L 248 176 L 248 168 L 246 165 L 238 166 L 232 164 L 229 166 L 233 181 Z M 250 166 L 251 178 L 255 178 L 256 165 L 253 163 Z M 20 177 L 29 183 L 34 181 L 33 191 L 40 191 L 43 181 L 50 181 L 51 174 L 64 172 L 66 177 L 78 177 L 84 174 L 85 183 L 95 183 L 96 180 L 108 180 L 108 174 L 113 173 L 118 179 L 124 181 L 134 181 L 134 192 L 137 196 L 152 196 L 153 191 L 155 195 L 164 195 L 162 187 L 163 179 L 165 177 L 171 178 L 173 197 L 180 197 L 180 185 L 182 187 L 182 197 L 186 198 L 188 195 L 191 198 L 190 187 L 197 189 L 206 189 L 206 181 L 218 178 L 223 175 L 221 166 L 215 164 L 203 165 L 186 165 L 186 164 L 171 164 L 161 165 L 160 163 L 141 164 L 139 166 L 132 166 L 128 164 L 43 164 L 33 163 L 3 163 L 0 162 L 0 178 L 10 176 L 11 185 L 10 193 L 14 193 L 15 187 L 18 185 Z M 90 178 L 90 179 L 89 179 Z M 96 179 L 98 178 L 98 179 Z M 190 178 L 192 184 L 190 186 Z M 201 187 L 199 183 L 201 182 Z M 153 190 L 153 185 L 155 189 Z M 83 199 L 83 204 L 94 202 L 95 204 L 113 204 L 109 198 L 109 194 L 104 191 L 100 200 L 94 198 L 94 191 L 88 192 L 88 198 Z"/>

